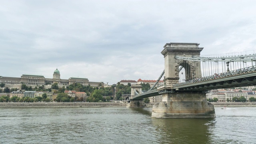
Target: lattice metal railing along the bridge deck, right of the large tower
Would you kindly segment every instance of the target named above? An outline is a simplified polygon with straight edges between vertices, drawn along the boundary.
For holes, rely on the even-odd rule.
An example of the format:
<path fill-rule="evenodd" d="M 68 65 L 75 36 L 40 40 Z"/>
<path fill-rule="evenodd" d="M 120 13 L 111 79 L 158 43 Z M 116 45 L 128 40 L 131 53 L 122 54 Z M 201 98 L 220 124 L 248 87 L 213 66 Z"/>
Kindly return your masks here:
<path fill-rule="evenodd" d="M 173 87 L 184 86 L 184 85 L 188 85 L 188 84 L 194 84 L 194 83 L 214 80 L 214 79 L 218 79 L 218 78 L 225 78 L 228 76 L 236 76 L 236 75 L 245 74 L 248 72 L 255 72 L 255 71 L 256 71 L 256 66 L 250 66 L 250 67 L 246 67 L 246 68 L 240 68 L 238 70 L 232 70 L 229 72 L 214 74 L 212 76 L 206 76 L 206 77 L 202 77 L 202 78 L 194 78 L 194 79 L 188 80 L 186 82 L 174 84 Z"/>

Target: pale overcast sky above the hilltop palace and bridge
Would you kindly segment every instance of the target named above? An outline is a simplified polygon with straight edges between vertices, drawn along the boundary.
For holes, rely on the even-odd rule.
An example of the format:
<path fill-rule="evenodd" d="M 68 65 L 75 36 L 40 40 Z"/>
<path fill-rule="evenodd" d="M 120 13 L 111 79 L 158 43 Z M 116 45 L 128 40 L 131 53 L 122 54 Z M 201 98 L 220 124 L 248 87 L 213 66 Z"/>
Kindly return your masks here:
<path fill-rule="evenodd" d="M 0 76 L 157 80 L 163 46 L 256 49 L 255 0 L 0 0 Z"/>

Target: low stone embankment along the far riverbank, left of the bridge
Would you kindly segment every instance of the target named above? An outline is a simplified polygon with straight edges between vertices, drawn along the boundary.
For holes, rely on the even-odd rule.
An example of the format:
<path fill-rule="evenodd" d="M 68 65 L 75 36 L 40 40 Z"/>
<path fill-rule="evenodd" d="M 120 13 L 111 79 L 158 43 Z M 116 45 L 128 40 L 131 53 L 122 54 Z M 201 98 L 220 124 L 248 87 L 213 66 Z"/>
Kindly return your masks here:
<path fill-rule="evenodd" d="M 116 102 L 0 102 L 0 107 L 126 107 Z"/>

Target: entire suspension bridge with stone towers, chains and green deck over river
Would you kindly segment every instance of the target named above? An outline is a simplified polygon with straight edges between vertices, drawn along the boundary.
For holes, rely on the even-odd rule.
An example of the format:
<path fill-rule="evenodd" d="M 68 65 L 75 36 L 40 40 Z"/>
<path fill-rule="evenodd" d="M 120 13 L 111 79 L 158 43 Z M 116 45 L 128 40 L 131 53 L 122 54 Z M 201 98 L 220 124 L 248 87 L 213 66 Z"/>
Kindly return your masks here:
<path fill-rule="evenodd" d="M 202 50 L 198 43 L 165 44 L 161 52 L 164 71 L 148 92 L 132 87 L 131 105 L 136 100 L 162 95 L 163 102 L 153 106 L 152 117 L 215 117 L 214 107 L 206 101 L 206 92 L 256 85 L 254 50 L 204 56 L 200 55 Z M 159 84 L 160 80 L 164 83 Z"/>

